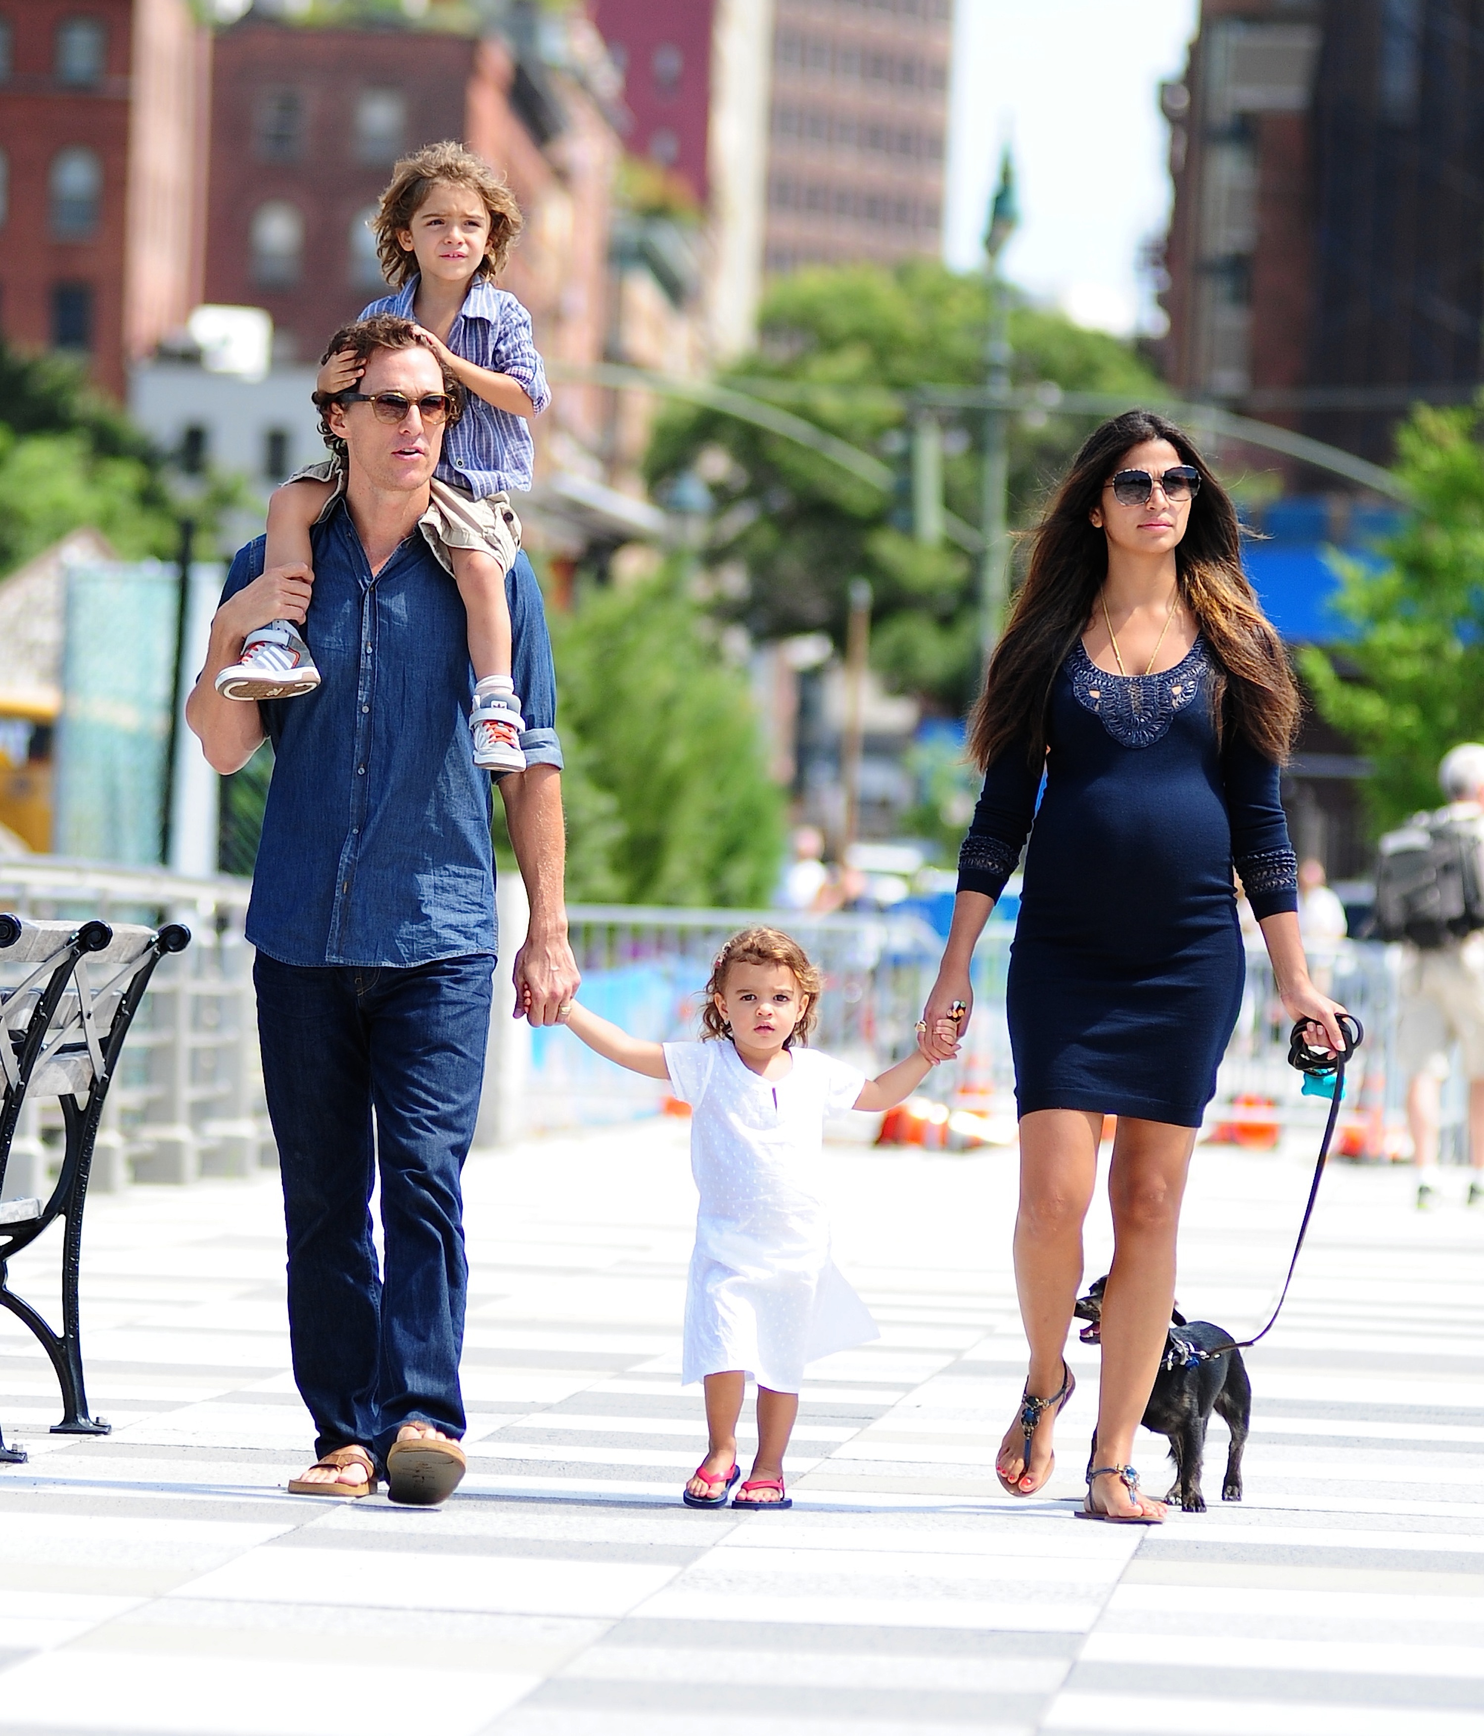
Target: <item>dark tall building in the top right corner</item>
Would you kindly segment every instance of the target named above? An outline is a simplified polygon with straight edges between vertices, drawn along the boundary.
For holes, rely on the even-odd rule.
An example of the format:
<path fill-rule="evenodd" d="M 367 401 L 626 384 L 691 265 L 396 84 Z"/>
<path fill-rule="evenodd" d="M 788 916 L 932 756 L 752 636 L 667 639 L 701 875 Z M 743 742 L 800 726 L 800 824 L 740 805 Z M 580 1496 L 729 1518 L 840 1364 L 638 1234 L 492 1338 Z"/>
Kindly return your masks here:
<path fill-rule="evenodd" d="M 1166 368 L 1375 462 L 1484 378 L 1484 5 L 1205 0 L 1165 89 Z"/>

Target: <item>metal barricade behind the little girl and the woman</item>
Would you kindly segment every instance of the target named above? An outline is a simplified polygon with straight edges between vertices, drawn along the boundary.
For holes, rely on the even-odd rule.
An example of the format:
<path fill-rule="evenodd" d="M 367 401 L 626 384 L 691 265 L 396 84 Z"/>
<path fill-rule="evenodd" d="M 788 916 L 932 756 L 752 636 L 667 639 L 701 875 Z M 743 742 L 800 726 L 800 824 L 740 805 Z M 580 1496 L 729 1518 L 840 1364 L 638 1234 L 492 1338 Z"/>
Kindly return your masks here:
<path fill-rule="evenodd" d="M 764 922 L 786 929 L 824 972 L 814 1042 L 880 1069 L 904 1055 L 937 974 L 941 937 L 916 917 L 791 911 L 651 910 L 573 906 L 573 948 L 583 970 L 583 1003 L 637 1036 L 679 1040 L 698 1031 L 699 993 L 722 941 Z M 941 1106 L 944 1146 L 1010 1144 L 1015 1130 L 1014 1064 L 1005 1021 L 1005 976 L 1014 924 L 991 920 L 974 955 L 974 1019 L 963 1054 L 939 1068 L 922 1095 Z M 1401 950 L 1375 941 L 1310 948 L 1316 983 L 1366 1028 L 1350 1068 L 1338 1151 L 1352 1158 L 1408 1154 L 1406 1080 L 1395 1068 Z M 1272 984 L 1260 937 L 1246 948 L 1246 988 L 1231 1047 L 1217 1075 L 1203 1139 L 1271 1147 L 1290 1134 L 1309 1139 L 1324 1106 L 1302 1095 L 1288 1066 L 1290 1021 Z M 663 1083 L 623 1073 L 564 1031 L 531 1033 L 524 1076 L 529 1130 L 576 1127 L 654 1113 Z M 1444 1088 L 1444 1156 L 1465 1147 L 1467 1085 L 1458 1069 Z"/>

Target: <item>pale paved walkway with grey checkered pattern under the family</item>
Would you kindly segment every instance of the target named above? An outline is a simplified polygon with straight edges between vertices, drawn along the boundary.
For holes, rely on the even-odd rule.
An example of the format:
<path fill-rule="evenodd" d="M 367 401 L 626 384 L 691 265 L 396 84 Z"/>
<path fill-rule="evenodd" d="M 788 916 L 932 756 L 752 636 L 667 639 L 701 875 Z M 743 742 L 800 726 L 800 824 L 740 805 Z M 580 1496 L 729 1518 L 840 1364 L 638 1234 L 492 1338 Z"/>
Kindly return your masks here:
<path fill-rule="evenodd" d="M 840 1151 L 838 1253 L 882 1342 L 818 1364 L 791 1514 L 698 1514 L 684 1137 L 470 1163 L 470 1476 L 436 1510 L 281 1493 L 309 1425 L 274 1177 L 95 1200 L 85 1345 L 113 1436 L 49 1436 L 43 1363 L 0 1328 L 0 1420 L 31 1450 L 0 1469 L 0 1731 L 1484 1733 L 1484 1213 L 1331 1172 L 1251 1358 L 1244 1503 L 1113 1529 L 1073 1519 L 1078 1344 L 1048 1498 L 989 1472 L 1024 1354 L 1012 1160 Z M 1260 1319 L 1305 1180 L 1199 1153 L 1189 1314 Z M 1097 1274 L 1106 1220 L 1090 1240 Z M 38 1262 L 17 1266 L 24 1290 Z M 1156 1489 L 1161 1460 L 1146 1437 Z"/>

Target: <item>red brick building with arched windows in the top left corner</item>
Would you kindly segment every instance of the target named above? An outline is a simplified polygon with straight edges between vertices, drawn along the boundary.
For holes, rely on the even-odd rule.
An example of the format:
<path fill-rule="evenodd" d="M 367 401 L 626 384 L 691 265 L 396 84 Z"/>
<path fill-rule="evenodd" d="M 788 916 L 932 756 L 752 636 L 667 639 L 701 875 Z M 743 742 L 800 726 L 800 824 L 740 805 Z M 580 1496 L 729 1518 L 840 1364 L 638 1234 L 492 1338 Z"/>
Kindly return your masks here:
<path fill-rule="evenodd" d="M 208 78 L 187 0 L 0 0 L 0 332 L 115 398 L 201 299 Z"/>

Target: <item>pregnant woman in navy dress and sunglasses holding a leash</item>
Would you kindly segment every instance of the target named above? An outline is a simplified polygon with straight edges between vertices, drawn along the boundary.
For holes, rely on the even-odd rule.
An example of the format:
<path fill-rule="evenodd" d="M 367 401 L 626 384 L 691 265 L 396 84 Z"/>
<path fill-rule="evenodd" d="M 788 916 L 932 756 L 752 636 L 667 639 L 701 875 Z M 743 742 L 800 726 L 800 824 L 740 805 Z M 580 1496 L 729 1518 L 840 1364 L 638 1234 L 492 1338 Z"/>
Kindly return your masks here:
<path fill-rule="evenodd" d="M 925 1009 L 972 1007 L 974 944 L 1026 833 L 1008 1021 L 1021 1118 L 1015 1281 L 1031 1344 L 996 1474 L 1034 1495 L 1071 1397 L 1062 1358 L 1104 1115 L 1118 1116 L 1102 1392 L 1085 1512 L 1156 1522 L 1133 1432 L 1165 1347 L 1185 1172 L 1243 995 L 1232 870 L 1291 1019 L 1338 1047 L 1309 981 L 1277 797 L 1298 693 L 1239 561 L 1236 510 L 1185 434 L 1130 411 L 1078 453 L 1034 540 L 970 746 L 984 792 Z M 1045 779 L 1045 786 L 1043 786 Z M 1040 797 L 1040 806 L 1038 806 Z M 930 1036 L 923 1043 L 932 1052 Z"/>

